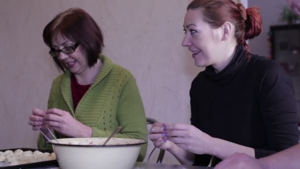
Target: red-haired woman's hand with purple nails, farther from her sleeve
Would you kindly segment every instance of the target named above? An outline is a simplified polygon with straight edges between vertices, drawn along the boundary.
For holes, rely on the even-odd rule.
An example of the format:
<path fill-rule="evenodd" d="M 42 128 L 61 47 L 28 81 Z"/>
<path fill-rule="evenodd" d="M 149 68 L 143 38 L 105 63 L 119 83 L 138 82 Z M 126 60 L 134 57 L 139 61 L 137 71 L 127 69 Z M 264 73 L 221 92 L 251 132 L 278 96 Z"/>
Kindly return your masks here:
<path fill-rule="evenodd" d="M 167 139 L 166 125 L 164 123 L 154 123 L 152 125 L 149 132 L 149 139 L 159 149 L 170 150 L 174 147 L 174 143 Z"/>

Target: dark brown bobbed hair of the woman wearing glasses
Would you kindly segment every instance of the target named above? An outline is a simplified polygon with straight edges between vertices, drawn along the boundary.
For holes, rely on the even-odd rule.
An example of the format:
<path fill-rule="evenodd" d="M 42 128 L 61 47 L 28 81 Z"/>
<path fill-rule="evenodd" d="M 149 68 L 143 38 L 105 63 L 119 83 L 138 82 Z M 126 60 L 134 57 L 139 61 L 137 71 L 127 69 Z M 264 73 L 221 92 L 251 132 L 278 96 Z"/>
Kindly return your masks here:
<path fill-rule="evenodd" d="M 104 47 L 103 35 L 94 19 L 80 8 L 70 8 L 59 13 L 43 30 L 43 40 L 51 48 L 51 39 L 61 34 L 64 38 L 79 42 L 85 49 L 88 66 L 93 66 Z M 65 71 L 65 66 L 53 58 L 56 65 Z"/>

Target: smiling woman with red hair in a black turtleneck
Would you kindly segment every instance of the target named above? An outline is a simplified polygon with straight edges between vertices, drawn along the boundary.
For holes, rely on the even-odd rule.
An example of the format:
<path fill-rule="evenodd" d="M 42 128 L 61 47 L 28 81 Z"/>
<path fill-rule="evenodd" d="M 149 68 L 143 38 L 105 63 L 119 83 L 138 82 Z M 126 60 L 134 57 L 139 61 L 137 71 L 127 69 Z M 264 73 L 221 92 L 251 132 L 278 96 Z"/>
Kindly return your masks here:
<path fill-rule="evenodd" d="M 292 80 L 275 61 L 249 52 L 262 31 L 258 8 L 193 0 L 182 45 L 206 67 L 190 88 L 191 125 L 156 123 L 155 147 L 184 165 L 212 166 L 234 153 L 262 158 L 298 143 Z"/>

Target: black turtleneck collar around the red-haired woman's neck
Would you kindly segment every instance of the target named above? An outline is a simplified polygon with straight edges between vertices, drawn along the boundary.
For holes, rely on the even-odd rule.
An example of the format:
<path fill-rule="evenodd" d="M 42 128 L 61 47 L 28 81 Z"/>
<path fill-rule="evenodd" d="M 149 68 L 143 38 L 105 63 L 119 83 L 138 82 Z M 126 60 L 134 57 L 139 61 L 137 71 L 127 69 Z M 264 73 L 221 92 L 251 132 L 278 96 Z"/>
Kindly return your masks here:
<path fill-rule="evenodd" d="M 226 83 L 235 77 L 235 75 L 241 70 L 246 62 L 247 57 L 244 47 L 239 44 L 236 46 L 233 58 L 221 72 L 216 73 L 212 66 L 207 66 L 204 73 L 214 81 Z"/>

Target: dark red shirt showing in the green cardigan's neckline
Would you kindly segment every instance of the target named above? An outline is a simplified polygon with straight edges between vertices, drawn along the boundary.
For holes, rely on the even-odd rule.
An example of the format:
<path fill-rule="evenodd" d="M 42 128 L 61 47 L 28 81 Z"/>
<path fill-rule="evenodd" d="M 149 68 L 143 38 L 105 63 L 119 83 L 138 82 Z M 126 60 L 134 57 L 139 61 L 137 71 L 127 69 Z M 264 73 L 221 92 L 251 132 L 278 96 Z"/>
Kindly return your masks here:
<path fill-rule="evenodd" d="M 86 93 L 88 88 L 90 88 L 91 84 L 87 85 L 81 85 L 77 83 L 77 80 L 75 76 L 72 74 L 71 76 L 71 90 L 72 90 L 72 96 L 73 96 L 73 104 L 74 104 L 74 110 L 76 110 L 77 104 L 83 97 L 83 95 Z"/>

